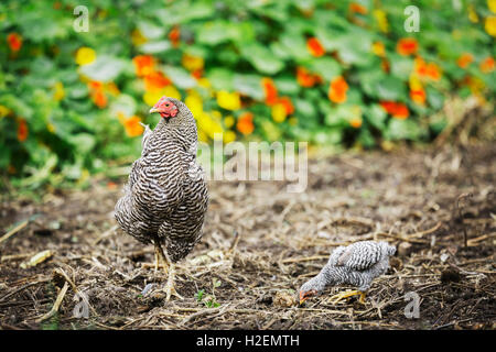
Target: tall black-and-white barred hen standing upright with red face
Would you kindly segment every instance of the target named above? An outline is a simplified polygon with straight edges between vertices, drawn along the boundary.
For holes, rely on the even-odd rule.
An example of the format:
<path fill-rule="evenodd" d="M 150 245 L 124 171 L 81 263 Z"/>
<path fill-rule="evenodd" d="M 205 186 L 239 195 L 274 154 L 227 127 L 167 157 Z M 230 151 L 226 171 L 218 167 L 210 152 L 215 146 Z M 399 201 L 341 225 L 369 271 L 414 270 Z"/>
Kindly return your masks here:
<path fill-rule="evenodd" d="M 155 270 L 163 261 L 168 273 L 166 299 L 174 294 L 174 263 L 202 238 L 208 193 L 196 162 L 196 123 L 180 100 L 162 97 L 150 110 L 160 122 L 145 127 L 141 157 L 131 168 L 115 215 L 120 228 L 142 243 L 155 246 Z"/>

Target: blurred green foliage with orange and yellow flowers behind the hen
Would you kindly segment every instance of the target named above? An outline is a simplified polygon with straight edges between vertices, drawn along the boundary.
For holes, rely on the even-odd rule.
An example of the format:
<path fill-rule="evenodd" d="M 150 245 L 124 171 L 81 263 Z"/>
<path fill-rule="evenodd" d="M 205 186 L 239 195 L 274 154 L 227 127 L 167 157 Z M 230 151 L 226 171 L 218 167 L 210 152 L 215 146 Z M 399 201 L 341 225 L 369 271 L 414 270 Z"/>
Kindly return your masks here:
<path fill-rule="evenodd" d="M 202 141 L 429 141 L 446 96 L 494 99 L 496 3 L 414 1 L 408 33 L 410 4 L 3 0 L 1 173 L 34 188 L 130 163 L 161 95 L 186 101 Z"/>

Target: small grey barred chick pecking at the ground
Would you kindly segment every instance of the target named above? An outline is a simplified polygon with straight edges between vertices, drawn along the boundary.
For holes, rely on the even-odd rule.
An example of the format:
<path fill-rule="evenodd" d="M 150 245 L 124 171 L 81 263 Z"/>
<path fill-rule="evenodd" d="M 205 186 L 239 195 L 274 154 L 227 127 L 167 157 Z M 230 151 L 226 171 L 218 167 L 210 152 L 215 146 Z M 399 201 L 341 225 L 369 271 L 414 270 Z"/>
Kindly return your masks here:
<path fill-rule="evenodd" d="M 358 290 L 337 294 L 331 297 L 333 302 L 360 295 L 359 301 L 365 304 L 365 292 L 368 290 L 374 278 L 387 272 L 389 256 L 395 253 L 396 248 L 384 241 L 362 241 L 348 246 L 338 246 L 319 275 L 301 286 L 300 304 L 309 297 L 319 295 L 326 286 L 341 284 L 357 286 Z"/>

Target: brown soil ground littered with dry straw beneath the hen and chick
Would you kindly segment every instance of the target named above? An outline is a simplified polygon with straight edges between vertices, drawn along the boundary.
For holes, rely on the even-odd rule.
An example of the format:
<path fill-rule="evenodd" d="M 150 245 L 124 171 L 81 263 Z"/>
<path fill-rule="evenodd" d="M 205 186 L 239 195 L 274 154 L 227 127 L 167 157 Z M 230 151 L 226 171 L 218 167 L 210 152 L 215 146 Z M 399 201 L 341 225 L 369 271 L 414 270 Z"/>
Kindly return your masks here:
<path fill-rule="evenodd" d="M 4 197 L 0 234 L 30 221 L 0 243 L 0 326 L 494 329 L 495 185 L 494 144 L 313 157 L 302 194 L 288 194 L 284 183 L 212 182 L 204 238 L 177 267 L 184 299 L 171 301 L 153 248 L 108 231 L 120 185 L 96 178 L 89 189 L 46 193 L 39 202 Z M 299 306 L 298 288 L 333 248 L 365 239 L 398 246 L 366 305 L 355 297 L 333 305 L 328 298 L 351 287 L 331 287 Z M 20 266 L 45 250 L 52 257 Z M 43 317 L 66 282 L 58 310 Z M 405 315 L 410 292 L 420 297 L 419 318 Z M 88 318 L 77 315 L 83 295 Z"/>

